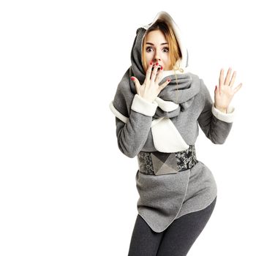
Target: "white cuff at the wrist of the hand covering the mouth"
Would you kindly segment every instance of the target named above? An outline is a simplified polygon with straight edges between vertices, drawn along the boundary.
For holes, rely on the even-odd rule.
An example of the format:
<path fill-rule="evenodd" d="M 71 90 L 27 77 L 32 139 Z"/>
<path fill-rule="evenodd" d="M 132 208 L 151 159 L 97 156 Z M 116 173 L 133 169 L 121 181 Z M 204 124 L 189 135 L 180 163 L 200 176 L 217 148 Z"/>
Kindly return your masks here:
<path fill-rule="evenodd" d="M 154 116 L 157 106 L 157 102 L 148 102 L 146 99 L 143 99 L 143 97 L 140 97 L 139 94 L 135 94 L 131 108 L 135 112 L 141 113 L 145 116 Z"/>

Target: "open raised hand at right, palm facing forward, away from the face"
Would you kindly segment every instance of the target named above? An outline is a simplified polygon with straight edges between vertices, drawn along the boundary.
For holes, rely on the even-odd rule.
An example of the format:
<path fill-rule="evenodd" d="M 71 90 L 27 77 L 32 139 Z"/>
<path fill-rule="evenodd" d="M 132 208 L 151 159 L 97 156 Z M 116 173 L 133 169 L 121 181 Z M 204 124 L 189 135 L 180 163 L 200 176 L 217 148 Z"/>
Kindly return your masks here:
<path fill-rule="evenodd" d="M 233 88 L 233 84 L 236 78 L 236 71 L 233 72 L 232 78 L 230 80 L 231 68 L 227 71 L 227 76 L 224 81 L 224 69 L 220 70 L 219 75 L 219 86 L 215 87 L 214 91 L 214 107 L 218 110 L 227 113 L 227 107 L 230 105 L 233 96 L 236 92 L 241 89 L 242 83 L 240 83 L 236 88 Z"/>

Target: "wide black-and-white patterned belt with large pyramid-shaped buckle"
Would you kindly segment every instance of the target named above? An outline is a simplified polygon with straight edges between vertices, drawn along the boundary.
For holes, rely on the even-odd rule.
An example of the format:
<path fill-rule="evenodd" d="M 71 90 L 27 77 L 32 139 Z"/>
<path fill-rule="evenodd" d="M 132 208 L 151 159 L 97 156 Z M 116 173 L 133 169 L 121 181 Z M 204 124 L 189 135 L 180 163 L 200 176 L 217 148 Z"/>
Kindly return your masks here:
<path fill-rule="evenodd" d="M 178 173 L 192 168 L 198 162 L 194 145 L 174 153 L 140 151 L 137 157 L 140 173 L 147 175 Z"/>

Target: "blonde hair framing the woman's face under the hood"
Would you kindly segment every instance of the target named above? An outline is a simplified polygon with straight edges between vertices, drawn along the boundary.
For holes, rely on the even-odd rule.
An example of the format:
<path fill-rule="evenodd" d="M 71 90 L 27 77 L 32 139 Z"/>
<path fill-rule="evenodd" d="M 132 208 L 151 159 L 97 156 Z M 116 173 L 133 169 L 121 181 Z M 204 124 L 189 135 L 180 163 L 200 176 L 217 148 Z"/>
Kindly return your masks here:
<path fill-rule="evenodd" d="M 174 67 L 176 64 L 176 61 L 178 61 L 178 59 L 181 59 L 182 55 L 181 55 L 181 49 L 178 46 L 178 42 L 176 39 L 176 36 L 173 32 L 173 29 L 171 27 L 169 27 L 167 25 L 167 23 L 165 23 L 165 21 L 163 20 L 157 20 L 156 23 L 154 23 L 145 33 L 144 38 L 143 38 L 143 43 L 142 43 L 142 65 L 143 65 L 143 69 L 146 72 L 146 35 L 151 32 L 151 31 L 155 31 L 155 30 L 160 30 L 162 31 L 162 33 L 165 35 L 165 38 L 167 40 L 168 43 L 168 47 L 169 47 L 169 54 L 170 54 L 170 70 L 178 70 L 180 67 L 178 65 L 178 67 Z"/>

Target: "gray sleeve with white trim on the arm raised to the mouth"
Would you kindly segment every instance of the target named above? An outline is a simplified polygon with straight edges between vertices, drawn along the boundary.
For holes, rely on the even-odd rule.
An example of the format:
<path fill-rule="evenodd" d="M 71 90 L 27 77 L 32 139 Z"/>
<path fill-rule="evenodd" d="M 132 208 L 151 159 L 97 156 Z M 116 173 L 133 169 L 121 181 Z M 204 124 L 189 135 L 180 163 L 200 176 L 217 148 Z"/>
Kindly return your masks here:
<path fill-rule="evenodd" d="M 148 102 L 138 94 L 132 100 L 129 118 L 123 116 L 110 102 L 110 110 L 116 116 L 118 148 L 127 157 L 133 158 L 146 143 L 151 128 L 152 116 L 157 110 L 156 102 Z"/>

